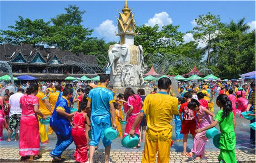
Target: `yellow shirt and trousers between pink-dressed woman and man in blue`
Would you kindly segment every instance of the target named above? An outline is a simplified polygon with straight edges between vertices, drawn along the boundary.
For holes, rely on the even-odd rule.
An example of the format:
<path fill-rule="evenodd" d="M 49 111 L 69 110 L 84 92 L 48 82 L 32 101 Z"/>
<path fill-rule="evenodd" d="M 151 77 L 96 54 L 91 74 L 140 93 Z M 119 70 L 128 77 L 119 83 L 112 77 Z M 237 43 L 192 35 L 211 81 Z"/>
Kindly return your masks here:
<path fill-rule="evenodd" d="M 51 108 L 51 105 L 50 105 L 49 101 L 47 100 L 45 94 L 41 91 L 38 91 L 36 96 L 38 98 L 39 110 L 41 111 L 41 113 L 45 116 L 52 115 L 52 108 Z M 41 119 L 41 118 L 38 116 L 38 120 L 39 119 Z M 46 133 L 46 126 L 44 124 L 41 124 L 40 121 L 39 121 L 39 134 L 40 134 L 40 139 L 41 139 L 42 144 L 46 144 L 49 142 L 49 139 L 48 139 L 48 136 Z"/>

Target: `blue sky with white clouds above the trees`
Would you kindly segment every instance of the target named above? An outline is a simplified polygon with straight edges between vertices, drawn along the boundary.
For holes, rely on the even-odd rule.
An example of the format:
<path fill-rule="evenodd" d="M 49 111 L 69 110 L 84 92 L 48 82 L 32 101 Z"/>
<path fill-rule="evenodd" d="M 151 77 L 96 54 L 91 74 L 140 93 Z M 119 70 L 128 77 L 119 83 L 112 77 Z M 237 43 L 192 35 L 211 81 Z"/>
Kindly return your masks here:
<path fill-rule="evenodd" d="M 83 25 L 94 29 L 93 36 L 106 41 L 118 41 L 117 31 L 118 11 L 124 6 L 124 1 L 0 1 L 0 29 L 7 30 L 14 25 L 21 15 L 24 18 L 44 19 L 45 21 L 58 14 L 65 13 L 64 8 L 76 4 L 83 15 Z M 180 25 L 179 30 L 186 33 L 192 30 L 193 20 L 198 15 L 211 12 L 220 15 L 222 22 L 243 17 L 255 29 L 255 1 L 128 1 L 133 8 L 137 24 Z M 192 40 L 192 35 L 186 35 L 186 41 Z"/>

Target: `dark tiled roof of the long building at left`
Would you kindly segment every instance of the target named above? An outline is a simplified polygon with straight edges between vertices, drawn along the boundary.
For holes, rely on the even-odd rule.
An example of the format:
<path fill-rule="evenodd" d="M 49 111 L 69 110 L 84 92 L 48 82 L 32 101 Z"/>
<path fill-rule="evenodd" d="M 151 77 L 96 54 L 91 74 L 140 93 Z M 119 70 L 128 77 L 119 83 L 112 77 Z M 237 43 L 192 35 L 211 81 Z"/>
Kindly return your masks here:
<path fill-rule="evenodd" d="M 20 46 L 12 44 L 4 44 L 0 46 L 0 60 L 10 61 L 17 57 L 19 52 L 24 56 L 24 59 L 30 62 L 37 51 L 41 54 L 43 59 L 49 63 L 54 55 L 60 59 L 64 64 L 75 64 L 76 62 L 83 62 L 89 65 L 97 66 L 95 56 L 85 56 L 83 53 L 72 53 L 70 51 L 61 51 L 58 48 L 44 48 L 43 46 L 34 46 L 31 44 L 20 44 Z"/>

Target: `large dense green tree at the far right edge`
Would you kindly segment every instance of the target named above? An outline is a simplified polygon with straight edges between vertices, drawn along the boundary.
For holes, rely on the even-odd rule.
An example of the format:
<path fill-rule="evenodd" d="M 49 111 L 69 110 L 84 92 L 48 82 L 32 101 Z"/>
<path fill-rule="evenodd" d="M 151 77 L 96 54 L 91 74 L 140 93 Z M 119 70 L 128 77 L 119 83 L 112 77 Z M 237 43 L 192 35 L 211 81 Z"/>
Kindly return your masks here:
<path fill-rule="evenodd" d="M 255 30 L 245 33 L 247 29 L 243 26 L 232 20 L 213 45 L 210 68 L 222 78 L 238 78 L 239 74 L 255 70 Z"/>

